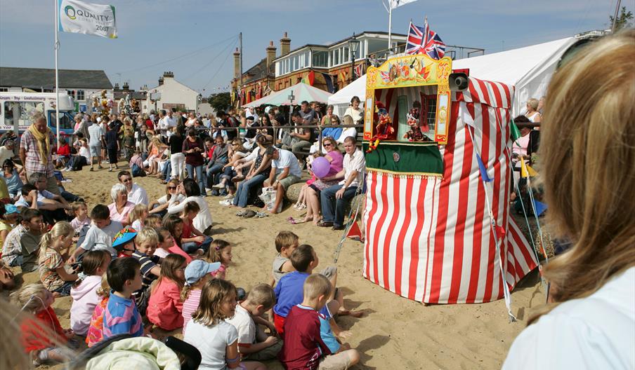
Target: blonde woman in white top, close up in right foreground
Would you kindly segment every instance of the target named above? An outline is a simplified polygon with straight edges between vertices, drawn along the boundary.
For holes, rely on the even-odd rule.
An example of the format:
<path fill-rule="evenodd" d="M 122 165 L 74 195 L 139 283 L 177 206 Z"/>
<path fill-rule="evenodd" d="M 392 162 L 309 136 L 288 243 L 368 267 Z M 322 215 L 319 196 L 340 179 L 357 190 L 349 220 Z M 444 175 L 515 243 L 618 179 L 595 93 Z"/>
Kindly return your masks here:
<path fill-rule="evenodd" d="M 551 79 L 540 176 L 549 226 L 572 247 L 544 267 L 549 304 L 504 369 L 635 369 L 634 60 L 631 29 L 585 46 Z"/>

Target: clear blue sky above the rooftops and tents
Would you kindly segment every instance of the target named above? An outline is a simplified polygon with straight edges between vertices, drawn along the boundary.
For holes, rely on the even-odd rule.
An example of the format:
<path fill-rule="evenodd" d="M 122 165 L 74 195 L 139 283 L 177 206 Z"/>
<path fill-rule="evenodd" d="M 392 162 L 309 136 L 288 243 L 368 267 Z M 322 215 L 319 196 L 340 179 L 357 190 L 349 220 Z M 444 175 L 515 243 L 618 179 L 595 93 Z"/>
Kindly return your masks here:
<path fill-rule="evenodd" d="M 289 32 L 292 49 L 387 31 L 381 0 L 93 0 L 117 8 L 119 39 L 60 33 L 62 69 L 103 69 L 112 83 L 157 85 L 163 71 L 204 95 L 228 85 L 243 33 L 244 69 Z M 609 27 L 616 0 L 419 0 L 393 11 L 393 32 L 423 24 L 449 45 L 486 53 Z M 442 4 L 443 3 L 443 4 Z M 53 68 L 54 0 L 0 0 L 0 65 Z M 630 9 L 633 10 L 633 9 Z"/>

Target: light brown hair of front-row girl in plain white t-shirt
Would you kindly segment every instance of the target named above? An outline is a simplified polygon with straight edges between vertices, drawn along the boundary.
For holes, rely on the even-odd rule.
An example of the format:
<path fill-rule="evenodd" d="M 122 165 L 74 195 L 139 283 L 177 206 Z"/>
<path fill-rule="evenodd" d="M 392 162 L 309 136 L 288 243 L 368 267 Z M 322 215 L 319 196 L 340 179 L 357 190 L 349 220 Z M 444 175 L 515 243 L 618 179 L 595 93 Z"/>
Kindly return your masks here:
<path fill-rule="evenodd" d="M 192 313 L 192 320 L 206 326 L 216 325 L 228 317 L 221 310 L 225 299 L 235 299 L 236 287 L 227 280 L 211 279 L 205 283 L 201 292 L 201 301 Z"/>

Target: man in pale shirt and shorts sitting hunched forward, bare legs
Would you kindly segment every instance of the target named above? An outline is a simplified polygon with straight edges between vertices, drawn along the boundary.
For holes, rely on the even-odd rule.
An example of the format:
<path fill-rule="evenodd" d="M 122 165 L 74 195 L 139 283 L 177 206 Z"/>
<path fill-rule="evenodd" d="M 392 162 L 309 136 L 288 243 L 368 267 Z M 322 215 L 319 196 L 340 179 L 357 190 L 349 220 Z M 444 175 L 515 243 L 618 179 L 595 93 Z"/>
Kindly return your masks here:
<path fill-rule="evenodd" d="M 266 154 L 271 156 L 273 160 L 271 161 L 269 179 L 264 182 L 263 186 L 272 186 L 276 191 L 275 206 L 273 210 L 270 210 L 271 213 L 275 214 L 282 210 L 284 193 L 289 189 L 289 186 L 300 181 L 302 169 L 298 159 L 290 151 L 270 146 L 267 148 Z"/>

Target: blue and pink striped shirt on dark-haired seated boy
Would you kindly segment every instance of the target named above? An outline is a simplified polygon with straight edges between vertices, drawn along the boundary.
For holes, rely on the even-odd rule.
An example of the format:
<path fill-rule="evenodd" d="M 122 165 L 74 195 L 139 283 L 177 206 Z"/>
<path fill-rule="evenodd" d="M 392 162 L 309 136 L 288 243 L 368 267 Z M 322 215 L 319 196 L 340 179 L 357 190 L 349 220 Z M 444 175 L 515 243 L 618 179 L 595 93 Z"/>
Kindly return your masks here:
<path fill-rule="evenodd" d="M 143 336 L 143 323 L 137 305 L 132 299 L 123 298 L 110 291 L 110 299 L 103 317 L 103 338 L 117 334 Z"/>

